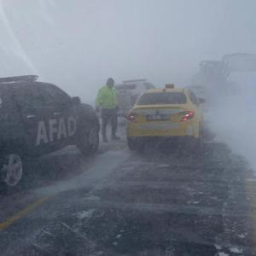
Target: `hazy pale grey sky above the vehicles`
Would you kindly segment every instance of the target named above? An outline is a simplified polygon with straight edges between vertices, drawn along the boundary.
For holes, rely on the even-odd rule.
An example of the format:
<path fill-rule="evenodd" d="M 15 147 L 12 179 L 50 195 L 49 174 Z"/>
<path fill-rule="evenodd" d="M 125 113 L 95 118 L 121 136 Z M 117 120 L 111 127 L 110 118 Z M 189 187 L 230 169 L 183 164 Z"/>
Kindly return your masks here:
<path fill-rule="evenodd" d="M 0 76 L 38 73 L 91 101 L 109 76 L 189 84 L 256 53 L 255 0 L 0 0 Z"/>

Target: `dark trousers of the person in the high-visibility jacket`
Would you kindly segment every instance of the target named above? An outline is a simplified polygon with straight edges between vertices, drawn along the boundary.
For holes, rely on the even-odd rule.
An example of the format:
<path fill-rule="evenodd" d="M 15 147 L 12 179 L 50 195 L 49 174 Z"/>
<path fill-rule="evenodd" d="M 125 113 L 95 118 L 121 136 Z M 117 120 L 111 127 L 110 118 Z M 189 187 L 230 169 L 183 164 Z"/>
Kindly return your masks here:
<path fill-rule="evenodd" d="M 117 130 L 117 110 L 115 108 L 102 109 L 102 136 L 103 137 L 107 136 L 108 122 L 111 123 L 111 126 L 112 126 L 111 134 L 112 134 L 112 137 L 114 137 Z"/>

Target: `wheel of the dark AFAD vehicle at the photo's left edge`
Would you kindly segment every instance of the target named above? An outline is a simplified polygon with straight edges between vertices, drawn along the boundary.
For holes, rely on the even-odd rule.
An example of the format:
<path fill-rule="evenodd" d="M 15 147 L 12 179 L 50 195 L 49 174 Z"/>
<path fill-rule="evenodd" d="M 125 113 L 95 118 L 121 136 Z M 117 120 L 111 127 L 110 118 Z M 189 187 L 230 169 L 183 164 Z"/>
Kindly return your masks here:
<path fill-rule="evenodd" d="M 18 154 L 8 154 L 1 166 L 1 191 L 15 188 L 23 177 L 23 163 Z"/>

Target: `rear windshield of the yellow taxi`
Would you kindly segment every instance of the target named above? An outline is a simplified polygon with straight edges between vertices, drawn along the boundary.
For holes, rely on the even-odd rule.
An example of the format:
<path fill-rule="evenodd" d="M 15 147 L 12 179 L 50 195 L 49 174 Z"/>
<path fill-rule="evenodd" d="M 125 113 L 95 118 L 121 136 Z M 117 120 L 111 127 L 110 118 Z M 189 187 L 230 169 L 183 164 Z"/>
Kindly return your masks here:
<path fill-rule="evenodd" d="M 146 93 L 141 96 L 137 105 L 156 105 L 156 104 L 185 104 L 187 97 L 183 92 L 156 92 Z"/>

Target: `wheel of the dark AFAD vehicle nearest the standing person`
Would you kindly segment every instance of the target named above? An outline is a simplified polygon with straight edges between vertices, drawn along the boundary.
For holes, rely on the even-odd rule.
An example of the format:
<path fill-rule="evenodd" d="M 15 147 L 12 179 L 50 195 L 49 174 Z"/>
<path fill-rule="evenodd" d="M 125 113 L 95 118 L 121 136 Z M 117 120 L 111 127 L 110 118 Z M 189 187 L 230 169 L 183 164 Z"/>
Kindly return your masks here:
<path fill-rule="evenodd" d="M 77 147 L 85 155 L 96 154 L 99 143 L 99 130 L 96 126 L 91 127 L 87 132 L 81 131 L 80 136 L 77 138 Z"/>

